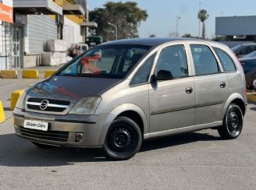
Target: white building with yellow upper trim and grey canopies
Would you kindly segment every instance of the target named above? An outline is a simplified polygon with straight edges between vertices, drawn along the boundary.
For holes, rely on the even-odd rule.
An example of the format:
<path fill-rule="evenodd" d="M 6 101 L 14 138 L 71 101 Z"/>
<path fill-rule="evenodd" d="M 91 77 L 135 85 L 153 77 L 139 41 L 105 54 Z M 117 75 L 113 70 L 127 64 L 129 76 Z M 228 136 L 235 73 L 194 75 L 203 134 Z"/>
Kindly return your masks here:
<path fill-rule="evenodd" d="M 87 27 L 86 0 L 0 0 L 12 10 L 12 20 L 0 15 L 0 70 L 41 65 L 47 40 L 83 43 Z M 2 20 L 2 21 L 1 21 Z M 2 50 L 2 51 L 1 51 Z"/>

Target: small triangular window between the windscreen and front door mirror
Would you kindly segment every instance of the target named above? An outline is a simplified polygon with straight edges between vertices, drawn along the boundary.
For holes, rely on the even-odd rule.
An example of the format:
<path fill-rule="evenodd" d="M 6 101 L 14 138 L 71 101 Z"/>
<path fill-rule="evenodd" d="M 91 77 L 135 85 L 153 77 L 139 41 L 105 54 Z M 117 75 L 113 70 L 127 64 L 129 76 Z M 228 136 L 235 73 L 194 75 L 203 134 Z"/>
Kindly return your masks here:
<path fill-rule="evenodd" d="M 130 85 L 137 85 L 140 83 L 146 83 L 148 82 L 148 78 L 152 69 L 152 65 L 154 63 L 155 54 L 151 55 L 143 65 L 140 66 L 140 68 L 137 70 L 135 75 L 133 76 L 133 79 L 130 82 Z"/>

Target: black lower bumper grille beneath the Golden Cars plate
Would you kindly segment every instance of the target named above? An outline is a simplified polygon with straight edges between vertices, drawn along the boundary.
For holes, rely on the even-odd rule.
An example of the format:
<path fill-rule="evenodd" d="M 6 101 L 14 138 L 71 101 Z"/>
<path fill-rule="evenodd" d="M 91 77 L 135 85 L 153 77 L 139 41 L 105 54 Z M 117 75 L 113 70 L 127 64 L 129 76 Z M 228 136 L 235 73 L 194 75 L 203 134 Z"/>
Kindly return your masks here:
<path fill-rule="evenodd" d="M 30 128 L 20 128 L 20 134 L 27 137 L 32 137 L 36 139 L 52 140 L 59 142 L 67 142 L 69 139 L 69 132 L 59 132 L 59 131 L 39 131 Z"/>

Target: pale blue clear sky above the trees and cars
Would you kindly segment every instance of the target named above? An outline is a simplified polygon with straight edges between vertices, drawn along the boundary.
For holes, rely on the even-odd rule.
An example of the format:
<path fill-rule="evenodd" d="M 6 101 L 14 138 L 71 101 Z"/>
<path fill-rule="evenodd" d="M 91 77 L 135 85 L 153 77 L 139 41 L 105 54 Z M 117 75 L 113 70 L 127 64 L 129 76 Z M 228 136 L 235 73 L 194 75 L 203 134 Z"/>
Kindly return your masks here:
<path fill-rule="evenodd" d="M 89 9 L 103 7 L 108 0 L 87 0 Z M 127 2 L 112 0 L 112 2 Z M 256 15 L 256 0 L 134 0 L 140 9 L 148 12 L 148 19 L 138 28 L 140 37 L 154 33 L 157 37 L 169 37 L 176 32 L 176 16 L 179 19 L 180 36 L 190 33 L 198 36 L 199 4 L 206 9 L 209 18 L 206 21 L 206 37 L 215 36 L 215 17 L 217 16 L 252 16 Z"/>

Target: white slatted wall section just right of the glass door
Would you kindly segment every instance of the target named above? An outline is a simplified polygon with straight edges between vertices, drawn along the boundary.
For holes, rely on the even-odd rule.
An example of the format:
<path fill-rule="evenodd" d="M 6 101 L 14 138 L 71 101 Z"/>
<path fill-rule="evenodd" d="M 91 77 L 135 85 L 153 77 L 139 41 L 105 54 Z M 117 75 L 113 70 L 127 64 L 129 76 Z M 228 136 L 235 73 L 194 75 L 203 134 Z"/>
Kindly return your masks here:
<path fill-rule="evenodd" d="M 40 53 L 44 51 L 46 40 L 57 39 L 55 20 L 45 15 L 28 15 L 24 36 L 26 52 Z"/>

